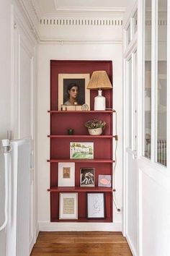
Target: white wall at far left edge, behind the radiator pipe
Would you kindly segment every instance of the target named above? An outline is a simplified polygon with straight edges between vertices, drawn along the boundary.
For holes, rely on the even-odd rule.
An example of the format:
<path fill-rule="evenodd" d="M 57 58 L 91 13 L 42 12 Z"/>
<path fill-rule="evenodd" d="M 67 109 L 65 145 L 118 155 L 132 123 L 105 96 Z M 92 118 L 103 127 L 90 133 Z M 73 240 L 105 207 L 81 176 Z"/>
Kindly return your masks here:
<path fill-rule="evenodd" d="M 0 140 L 10 129 L 11 111 L 11 9 L 10 0 L 2 0 L 0 8 Z M 4 159 L 0 151 L 0 226 L 4 222 Z M 0 231 L 1 255 L 6 255 L 6 231 Z"/>

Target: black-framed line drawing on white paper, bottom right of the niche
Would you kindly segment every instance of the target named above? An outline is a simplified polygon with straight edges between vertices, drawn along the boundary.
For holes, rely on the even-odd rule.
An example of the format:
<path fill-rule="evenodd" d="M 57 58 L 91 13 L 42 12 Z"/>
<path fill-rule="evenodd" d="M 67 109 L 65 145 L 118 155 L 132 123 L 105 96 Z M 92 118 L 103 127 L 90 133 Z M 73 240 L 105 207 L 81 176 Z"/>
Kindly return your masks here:
<path fill-rule="evenodd" d="M 87 218 L 105 218 L 104 193 L 86 193 Z"/>

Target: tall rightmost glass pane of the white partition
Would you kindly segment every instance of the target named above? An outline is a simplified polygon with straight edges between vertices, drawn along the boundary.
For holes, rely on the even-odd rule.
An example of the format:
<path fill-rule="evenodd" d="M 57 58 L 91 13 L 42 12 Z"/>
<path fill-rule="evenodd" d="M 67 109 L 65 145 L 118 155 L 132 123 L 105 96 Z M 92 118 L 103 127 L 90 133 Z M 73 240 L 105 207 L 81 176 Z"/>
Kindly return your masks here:
<path fill-rule="evenodd" d="M 157 162 L 166 166 L 167 0 L 158 0 Z"/>

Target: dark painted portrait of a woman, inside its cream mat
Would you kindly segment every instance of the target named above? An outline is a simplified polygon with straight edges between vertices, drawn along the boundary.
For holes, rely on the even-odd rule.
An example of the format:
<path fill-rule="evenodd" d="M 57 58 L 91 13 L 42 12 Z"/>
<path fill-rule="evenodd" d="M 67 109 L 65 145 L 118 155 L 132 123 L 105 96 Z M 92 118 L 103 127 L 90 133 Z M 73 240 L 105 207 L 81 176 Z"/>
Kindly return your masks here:
<path fill-rule="evenodd" d="M 85 103 L 85 80 L 64 79 L 63 80 L 63 104 L 83 105 Z"/>

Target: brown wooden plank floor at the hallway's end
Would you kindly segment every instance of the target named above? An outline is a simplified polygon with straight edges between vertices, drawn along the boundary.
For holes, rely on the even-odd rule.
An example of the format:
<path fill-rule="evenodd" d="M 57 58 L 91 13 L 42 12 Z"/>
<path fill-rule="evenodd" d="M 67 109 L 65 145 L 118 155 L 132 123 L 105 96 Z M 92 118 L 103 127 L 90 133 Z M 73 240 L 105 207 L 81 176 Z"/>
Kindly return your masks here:
<path fill-rule="evenodd" d="M 121 232 L 40 232 L 31 256 L 131 256 Z"/>

